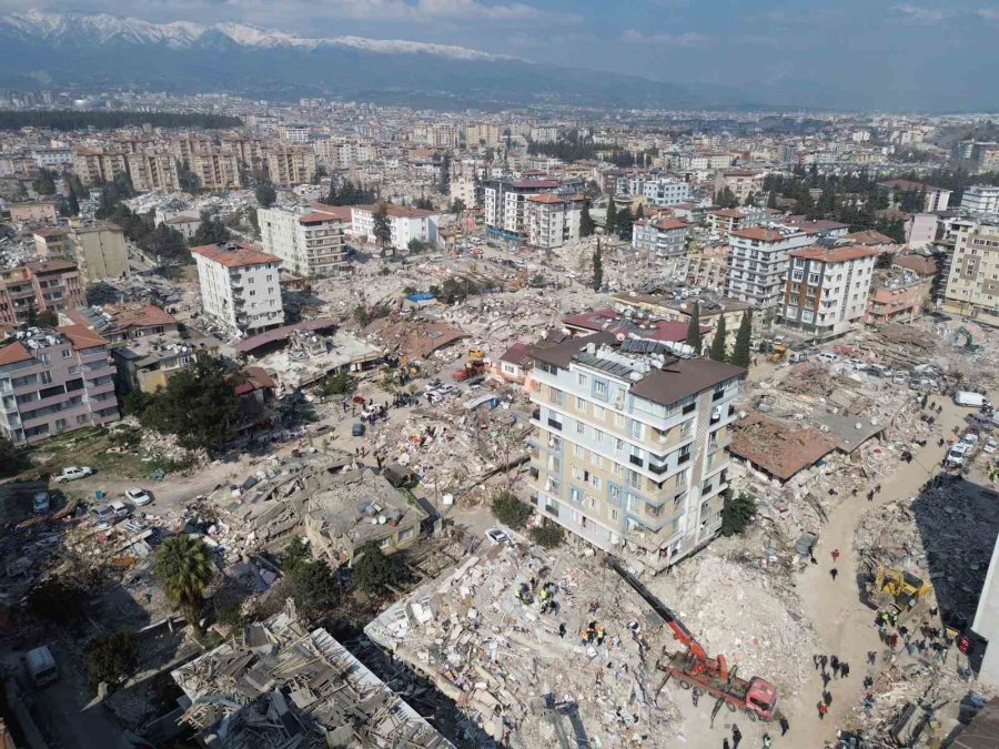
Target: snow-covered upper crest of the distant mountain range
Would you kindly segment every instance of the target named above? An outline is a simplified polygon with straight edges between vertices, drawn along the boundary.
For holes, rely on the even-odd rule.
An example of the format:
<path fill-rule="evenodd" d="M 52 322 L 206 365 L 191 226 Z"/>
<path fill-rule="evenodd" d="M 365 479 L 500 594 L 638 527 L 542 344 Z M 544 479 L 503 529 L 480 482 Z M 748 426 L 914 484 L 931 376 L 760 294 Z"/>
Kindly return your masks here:
<path fill-rule="evenodd" d="M 505 55 L 490 54 L 466 47 L 427 44 L 402 39 L 365 39 L 363 37 L 330 37 L 305 39 L 260 29 L 246 23 L 215 23 L 202 26 L 186 21 L 151 23 L 134 18 L 118 18 L 108 13 L 50 13 L 31 10 L 0 18 L 0 28 L 9 28 L 24 39 L 39 39 L 53 44 L 165 44 L 171 49 L 185 49 L 205 33 L 215 31 L 241 47 L 274 49 L 281 47 L 313 50 L 317 47 L 353 47 L 385 54 L 414 54 L 425 52 L 461 60 L 500 60 Z"/>

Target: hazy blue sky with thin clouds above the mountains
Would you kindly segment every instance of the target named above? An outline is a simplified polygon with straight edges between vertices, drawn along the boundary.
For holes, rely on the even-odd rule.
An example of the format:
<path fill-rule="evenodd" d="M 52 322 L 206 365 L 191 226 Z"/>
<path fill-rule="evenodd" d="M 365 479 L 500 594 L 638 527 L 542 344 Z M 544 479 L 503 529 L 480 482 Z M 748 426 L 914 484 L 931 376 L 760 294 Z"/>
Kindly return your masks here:
<path fill-rule="evenodd" d="M 809 105 L 999 98 L 999 0 L 0 0 L 32 8 L 463 44 Z"/>

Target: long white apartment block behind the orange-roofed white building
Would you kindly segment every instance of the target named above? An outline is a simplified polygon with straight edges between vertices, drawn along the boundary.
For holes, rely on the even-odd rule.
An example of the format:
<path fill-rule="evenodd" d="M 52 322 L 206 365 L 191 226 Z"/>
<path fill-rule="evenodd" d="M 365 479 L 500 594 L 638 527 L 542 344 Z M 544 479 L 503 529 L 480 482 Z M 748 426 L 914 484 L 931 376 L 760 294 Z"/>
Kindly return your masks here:
<path fill-rule="evenodd" d="M 271 208 L 256 212 L 261 245 L 295 275 L 329 275 L 347 264 L 343 222 L 327 213 Z"/>

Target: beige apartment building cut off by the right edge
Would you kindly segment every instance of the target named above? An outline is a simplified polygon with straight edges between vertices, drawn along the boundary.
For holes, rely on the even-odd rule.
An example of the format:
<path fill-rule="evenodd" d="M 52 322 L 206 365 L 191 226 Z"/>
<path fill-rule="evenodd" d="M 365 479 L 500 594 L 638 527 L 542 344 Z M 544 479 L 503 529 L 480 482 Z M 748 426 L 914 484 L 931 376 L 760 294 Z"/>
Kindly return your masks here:
<path fill-rule="evenodd" d="M 948 312 L 999 324 L 999 225 L 957 222 L 944 292 Z"/>

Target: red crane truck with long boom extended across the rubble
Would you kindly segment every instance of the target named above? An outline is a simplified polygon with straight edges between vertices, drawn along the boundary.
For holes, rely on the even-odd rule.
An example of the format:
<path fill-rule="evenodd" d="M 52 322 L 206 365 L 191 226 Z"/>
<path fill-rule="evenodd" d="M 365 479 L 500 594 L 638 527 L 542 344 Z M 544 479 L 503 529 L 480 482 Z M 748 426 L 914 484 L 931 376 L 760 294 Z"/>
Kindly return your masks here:
<path fill-rule="evenodd" d="M 656 598 L 638 578 L 624 569 L 613 557 L 607 559 L 608 566 L 616 571 L 622 579 L 652 606 L 663 620 L 669 625 L 673 636 L 679 640 L 685 650 L 666 652 L 656 661 L 656 668 L 666 672 L 666 678 L 656 690 L 656 696 L 666 686 L 670 677 L 676 677 L 677 684 L 684 689 L 698 687 L 716 699 L 725 701 L 725 706 L 733 712 L 743 710 L 749 720 L 773 720 L 780 717 L 777 711 L 777 688 L 758 676 L 748 681 L 736 676 L 736 668 L 728 668 L 725 656 L 709 658 L 705 649 L 695 639 L 690 630 L 683 621 L 676 618 L 668 606 Z"/>

